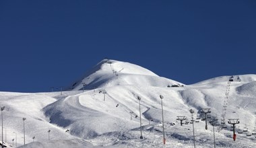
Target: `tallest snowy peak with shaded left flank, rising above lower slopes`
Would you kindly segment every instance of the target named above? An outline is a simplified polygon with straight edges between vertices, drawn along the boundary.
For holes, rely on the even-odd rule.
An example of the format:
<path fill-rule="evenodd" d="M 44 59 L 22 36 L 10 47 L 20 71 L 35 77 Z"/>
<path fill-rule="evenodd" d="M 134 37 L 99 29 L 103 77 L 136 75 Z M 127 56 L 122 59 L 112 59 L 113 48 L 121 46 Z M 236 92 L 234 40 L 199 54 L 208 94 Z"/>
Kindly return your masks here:
<path fill-rule="evenodd" d="M 94 89 L 114 85 L 151 85 L 167 87 L 182 85 L 177 81 L 159 77 L 152 71 L 132 63 L 103 59 L 81 79 L 71 85 L 71 89 Z"/>

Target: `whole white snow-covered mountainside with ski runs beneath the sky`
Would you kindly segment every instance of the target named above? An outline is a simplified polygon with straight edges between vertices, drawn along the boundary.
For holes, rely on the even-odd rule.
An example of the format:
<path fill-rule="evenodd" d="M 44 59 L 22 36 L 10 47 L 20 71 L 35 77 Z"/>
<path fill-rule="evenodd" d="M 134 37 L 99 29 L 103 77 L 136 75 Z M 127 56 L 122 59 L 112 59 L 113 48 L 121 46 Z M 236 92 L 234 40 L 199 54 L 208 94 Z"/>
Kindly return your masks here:
<path fill-rule="evenodd" d="M 256 75 L 185 85 L 104 59 L 67 91 L 0 92 L 0 106 L 5 106 L 0 141 L 7 147 L 194 147 L 193 124 L 195 147 L 214 147 L 214 135 L 216 147 L 256 147 Z M 211 111 L 207 130 L 203 108 Z M 187 119 L 182 126 L 177 116 Z M 240 122 L 236 141 L 228 119 Z"/>

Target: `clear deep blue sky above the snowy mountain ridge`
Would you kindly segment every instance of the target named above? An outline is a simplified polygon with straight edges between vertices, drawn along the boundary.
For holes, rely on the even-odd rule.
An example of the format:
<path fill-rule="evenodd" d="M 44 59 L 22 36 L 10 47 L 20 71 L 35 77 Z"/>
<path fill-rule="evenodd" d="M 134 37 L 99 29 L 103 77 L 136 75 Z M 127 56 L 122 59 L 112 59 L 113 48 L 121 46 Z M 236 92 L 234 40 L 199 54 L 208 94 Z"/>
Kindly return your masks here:
<path fill-rule="evenodd" d="M 105 57 L 191 84 L 256 73 L 256 1 L 0 1 L 0 91 L 68 86 Z"/>

